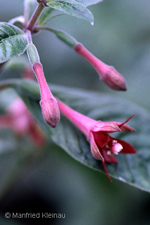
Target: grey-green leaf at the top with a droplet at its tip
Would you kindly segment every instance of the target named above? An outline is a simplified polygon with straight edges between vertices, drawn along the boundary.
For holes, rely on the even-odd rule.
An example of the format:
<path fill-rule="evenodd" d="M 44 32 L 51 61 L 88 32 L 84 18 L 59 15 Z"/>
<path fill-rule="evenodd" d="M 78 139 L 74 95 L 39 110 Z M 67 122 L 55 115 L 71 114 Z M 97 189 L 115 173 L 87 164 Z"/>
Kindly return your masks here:
<path fill-rule="evenodd" d="M 47 5 L 63 13 L 88 20 L 92 25 L 94 24 L 94 18 L 91 11 L 77 1 L 48 0 Z"/>

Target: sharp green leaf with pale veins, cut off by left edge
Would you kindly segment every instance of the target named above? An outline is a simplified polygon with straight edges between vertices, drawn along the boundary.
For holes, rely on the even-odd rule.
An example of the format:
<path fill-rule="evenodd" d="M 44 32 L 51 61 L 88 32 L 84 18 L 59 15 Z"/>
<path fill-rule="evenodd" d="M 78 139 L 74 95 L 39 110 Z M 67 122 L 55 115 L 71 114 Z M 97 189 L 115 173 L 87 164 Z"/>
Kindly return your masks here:
<path fill-rule="evenodd" d="M 23 54 L 28 46 L 26 35 L 18 27 L 0 22 L 0 63 Z"/>

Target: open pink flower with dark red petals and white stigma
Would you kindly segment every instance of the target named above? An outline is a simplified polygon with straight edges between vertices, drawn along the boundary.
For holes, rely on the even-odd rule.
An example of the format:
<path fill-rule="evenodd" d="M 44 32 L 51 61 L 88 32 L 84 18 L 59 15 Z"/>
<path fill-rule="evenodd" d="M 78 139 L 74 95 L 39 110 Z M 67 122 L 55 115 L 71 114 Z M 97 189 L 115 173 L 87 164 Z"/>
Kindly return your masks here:
<path fill-rule="evenodd" d="M 132 116 L 123 123 L 95 121 L 94 119 L 76 112 L 61 101 L 57 101 L 60 112 L 64 114 L 75 126 L 77 126 L 87 137 L 93 157 L 102 161 L 107 177 L 111 181 L 105 163 L 117 164 L 115 155 L 118 153 L 134 154 L 136 153 L 136 150 L 129 143 L 109 136 L 109 133 L 135 131 L 132 127 L 126 124 Z"/>

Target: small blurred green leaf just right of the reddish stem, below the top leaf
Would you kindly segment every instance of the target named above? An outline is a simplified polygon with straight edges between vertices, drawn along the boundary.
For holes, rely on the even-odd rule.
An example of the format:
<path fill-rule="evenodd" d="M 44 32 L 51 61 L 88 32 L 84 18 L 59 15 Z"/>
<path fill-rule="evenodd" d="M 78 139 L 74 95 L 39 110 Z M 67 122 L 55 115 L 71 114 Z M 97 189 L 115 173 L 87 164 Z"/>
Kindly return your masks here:
<path fill-rule="evenodd" d="M 38 24 L 41 26 L 46 25 L 50 21 L 53 11 L 54 9 L 52 8 L 45 8 L 39 17 Z"/>

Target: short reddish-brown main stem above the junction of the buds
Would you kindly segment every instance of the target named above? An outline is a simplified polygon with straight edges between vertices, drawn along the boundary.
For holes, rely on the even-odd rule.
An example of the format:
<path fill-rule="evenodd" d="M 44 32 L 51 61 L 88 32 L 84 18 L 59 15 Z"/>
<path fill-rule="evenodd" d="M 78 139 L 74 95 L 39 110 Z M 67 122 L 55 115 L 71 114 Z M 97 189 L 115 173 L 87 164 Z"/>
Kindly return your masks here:
<path fill-rule="evenodd" d="M 26 30 L 31 30 L 33 29 L 38 17 L 40 16 L 42 10 L 44 9 L 44 5 L 43 4 L 38 4 L 37 8 L 35 9 L 29 23 L 26 26 Z"/>

